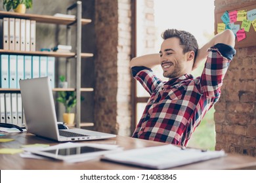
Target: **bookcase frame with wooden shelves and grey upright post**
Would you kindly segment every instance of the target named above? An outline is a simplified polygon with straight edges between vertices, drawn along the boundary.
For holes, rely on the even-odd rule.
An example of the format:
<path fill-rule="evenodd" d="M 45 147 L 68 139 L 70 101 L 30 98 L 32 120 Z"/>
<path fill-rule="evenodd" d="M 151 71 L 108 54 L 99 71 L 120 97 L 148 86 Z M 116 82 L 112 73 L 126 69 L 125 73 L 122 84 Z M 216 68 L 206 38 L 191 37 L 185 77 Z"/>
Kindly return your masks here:
<path fill-rule="evenodd" d="M 56 24 L 56 25 L 66 25 L 66 44 L 70 45 L 72 41 L 71 37 L 71 27 L 76 27 L 76 41 L 75 41 L 75 52 L 41 52 L 41 51 L 14 51 L 14 50 L 3 50 L 0 49 L 1 54 L 8 55 L 23 55 L 23 56 L 49 56 L 54 58 L 66 58 L 66 79 L 68 84 L 71 80 L 71 61 L 75 61 L 75 87 L 74 88 L 53 88 L 53 92 L 60 91 L 75 91 L 77 97 L 77 105 L 75 107 L 75 126 L 92 126 L 93 122 L 82 122 L 81 123 L 81 92 L 93 92 L 93 88 L 81 88 L 81 58 L 93 57 L 91 53 L 81 52 L 81 28 L 82 25 L 91 23 L 90 19 L 81 18 L 82 5 L 81 1 L 77 1 L 74 5 L 67 8 L 67 14 L 70 14 L 71 10 L 76 10 L 75 18 L 62 18 L 49 15 L 39 15 L 39 14 L 18 14 L 15 12 L 0 11 L 0 18 L 21 18 L 26 20 L 35 20 L 36 22 L 44 24 Z M 56 12 L 57 13 L 57 12 Z M 38 36 L 38 35 L 37 35 Z M 3 35 L 1 35 L 3 37 Z M 56 72 L 55 72 L 56 73 Z M 55 76 L 58 78 L 59 76 Z M 19 93 L 19 89 L 11 88 L 0 88 L 0 93 Z"/>

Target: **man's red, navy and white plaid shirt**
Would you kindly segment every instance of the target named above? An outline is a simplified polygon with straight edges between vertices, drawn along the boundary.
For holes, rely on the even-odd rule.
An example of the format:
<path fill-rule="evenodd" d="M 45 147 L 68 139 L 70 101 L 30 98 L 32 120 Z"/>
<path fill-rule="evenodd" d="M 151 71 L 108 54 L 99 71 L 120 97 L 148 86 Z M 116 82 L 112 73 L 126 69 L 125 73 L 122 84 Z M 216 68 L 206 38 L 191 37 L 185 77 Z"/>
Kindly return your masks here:
<path fill-rule="evenodd" d="M 230 57 L 223 53 L 226 50 L 220 49 L 221 46 L 219 50 L 209 48 L 205 68 L 197 78 L 183 75 L 163 82 L 147 67 L 132 68 L 135 79 L 150 93 L 133 137 L 187 145 L 192 132 L 221 95 L 224 74 L 230 63 L 230 59 L 226 59 Z M 229 46 L 229 51 L 235 53 L 233 50 Z"/>

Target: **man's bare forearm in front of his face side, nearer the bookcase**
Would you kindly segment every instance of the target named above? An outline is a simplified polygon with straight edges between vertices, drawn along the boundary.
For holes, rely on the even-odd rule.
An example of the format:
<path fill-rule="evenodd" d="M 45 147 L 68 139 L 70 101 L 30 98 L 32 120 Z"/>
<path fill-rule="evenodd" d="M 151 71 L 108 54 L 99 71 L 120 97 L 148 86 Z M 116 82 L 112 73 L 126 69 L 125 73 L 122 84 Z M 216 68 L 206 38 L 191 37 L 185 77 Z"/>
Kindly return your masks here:
<path fill-rule="evenodd" d="M 160 54 L 149 54 L 133 58 L 130 61 L 130 67 L 144 66 L 152 69 L 152 67 L 160 64 Z"/>

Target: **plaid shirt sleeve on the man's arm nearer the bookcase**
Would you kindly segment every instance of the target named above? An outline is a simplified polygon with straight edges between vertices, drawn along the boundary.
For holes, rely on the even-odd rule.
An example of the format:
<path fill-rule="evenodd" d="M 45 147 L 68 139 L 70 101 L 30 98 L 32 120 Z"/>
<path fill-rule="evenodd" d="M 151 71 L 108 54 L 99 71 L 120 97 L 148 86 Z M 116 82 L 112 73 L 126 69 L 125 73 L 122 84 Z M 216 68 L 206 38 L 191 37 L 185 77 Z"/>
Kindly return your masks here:
<path fill-rule="evenodd" d="M 131 71 L 135 80 L 138 80 L 150 95 L 163 83 L 148 67 L 135 66 L 131 68 Z"/>

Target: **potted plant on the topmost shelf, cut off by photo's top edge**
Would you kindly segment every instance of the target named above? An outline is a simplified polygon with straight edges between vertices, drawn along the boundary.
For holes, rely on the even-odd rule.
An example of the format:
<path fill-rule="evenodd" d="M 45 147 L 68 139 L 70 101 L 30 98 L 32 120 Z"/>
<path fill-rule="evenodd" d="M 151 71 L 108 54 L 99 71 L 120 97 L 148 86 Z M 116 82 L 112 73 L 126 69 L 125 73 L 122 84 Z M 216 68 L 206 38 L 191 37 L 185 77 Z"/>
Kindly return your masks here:
<path fill-rule="evenodd" d="M 32 0 L 3 0 L 3 8 L 7 11 L 13 9 L 14 12 L 24 14 L 26 8 L 32 8 Z"/>

